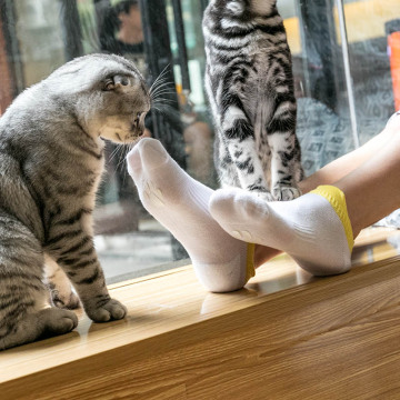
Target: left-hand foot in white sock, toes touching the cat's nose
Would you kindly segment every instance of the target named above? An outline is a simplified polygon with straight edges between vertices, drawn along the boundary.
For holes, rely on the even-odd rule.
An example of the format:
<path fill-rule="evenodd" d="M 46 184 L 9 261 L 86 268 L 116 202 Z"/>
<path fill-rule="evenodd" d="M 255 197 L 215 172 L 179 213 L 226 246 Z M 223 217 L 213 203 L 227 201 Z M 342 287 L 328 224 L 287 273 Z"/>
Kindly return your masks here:
<path fill-rule="evenodd" d="M 212 190 L 189 177 L 156 139 L 128 154 L 128 171 L 143 207 L 186 248 L 206 289 L 242 288 L 253 274 L 252 248 L 229 236 L 208 210 Z"/>

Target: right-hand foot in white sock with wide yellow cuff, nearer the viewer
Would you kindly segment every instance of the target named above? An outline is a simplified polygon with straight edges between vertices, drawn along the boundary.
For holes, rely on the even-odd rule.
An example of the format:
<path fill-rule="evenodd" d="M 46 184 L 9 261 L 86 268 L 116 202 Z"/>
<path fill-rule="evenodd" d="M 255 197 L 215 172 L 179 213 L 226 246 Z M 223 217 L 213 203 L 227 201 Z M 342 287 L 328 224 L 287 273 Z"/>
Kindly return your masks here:
<path fill-rule="evenodd" d="M 212 194 L 210 212 L 233 238 L 284 251 L 314 276 L 342 273 L 351 267 L 352 229 L 344 194 L 336 187 L 319 187 L 280 202 L 222 189 Z"/>

